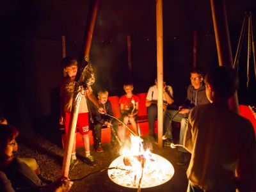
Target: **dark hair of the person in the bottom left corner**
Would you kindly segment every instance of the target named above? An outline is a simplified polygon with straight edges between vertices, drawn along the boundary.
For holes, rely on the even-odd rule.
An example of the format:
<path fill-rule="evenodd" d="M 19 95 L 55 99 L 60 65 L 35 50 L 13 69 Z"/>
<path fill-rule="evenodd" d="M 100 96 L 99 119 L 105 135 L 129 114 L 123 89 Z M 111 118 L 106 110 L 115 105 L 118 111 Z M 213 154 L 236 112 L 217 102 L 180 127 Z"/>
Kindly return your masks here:
<path fill-rule="evenodd" d="M 8 140 L 15 139 L 19 131 L 12 125 L 0 124 L 0 154 L 3 155 Z"/>

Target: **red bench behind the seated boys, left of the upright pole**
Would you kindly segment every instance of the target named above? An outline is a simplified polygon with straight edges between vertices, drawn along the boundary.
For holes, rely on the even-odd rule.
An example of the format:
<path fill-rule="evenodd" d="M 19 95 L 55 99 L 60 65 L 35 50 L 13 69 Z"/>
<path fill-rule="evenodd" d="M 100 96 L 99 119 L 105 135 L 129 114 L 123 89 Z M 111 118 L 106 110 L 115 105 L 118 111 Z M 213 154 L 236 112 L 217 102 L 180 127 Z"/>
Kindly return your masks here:
<path fill-rule="evenodd" d="M 138 127 L 140 128 L 140 135 L 145 136 L 148 134 L 148 116 L 147 116 L 147 108 L 145 106 L 147 93 L 138 93 L 136 94 L 140 98 L 139 102 L 139 111 L 138 111 Z M 118 96 L 111 96 L 108 97 L 108 100 L 111 102 L 113 115 L 116 118 L 120 118 L 120 104 L 119 104 L 119 97 Z M 128 125 L 129 127 L 131 125 Z M 157 121 L 155 122 L 155 132 L 157 132 Z M 93 145 L 93 134 L 92 131 L 89 132 L 90 136 L 90 145 Z M 62 134 L 61 136 L 62 146 L 65 147 L 66 144 L 66 134 Z M 111 141 L 111 129 L 106 127 L 101 130 L 101 141 L 102 143 L 110 142 Z M 82 147 L 83 140 L 80 134 L 76 136 L 76 146 Z"/>

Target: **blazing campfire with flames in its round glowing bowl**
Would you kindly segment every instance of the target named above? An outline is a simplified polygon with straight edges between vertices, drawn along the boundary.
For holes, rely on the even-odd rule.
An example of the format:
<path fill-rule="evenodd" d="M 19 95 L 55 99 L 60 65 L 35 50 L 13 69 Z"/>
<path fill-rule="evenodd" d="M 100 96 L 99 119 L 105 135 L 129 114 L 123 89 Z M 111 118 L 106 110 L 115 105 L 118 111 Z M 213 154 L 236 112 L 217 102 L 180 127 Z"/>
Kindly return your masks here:
<path fill-rule="evenodd" d="M 143 148 L 139 136 L 131 136 L 129 143 L 120 151 L 109 168 L 108 175 L 113 182 L 127 188 L 151 188 L 170 180 L 174 174 L 172 164 L 164 157 L 152 154 Z"/>

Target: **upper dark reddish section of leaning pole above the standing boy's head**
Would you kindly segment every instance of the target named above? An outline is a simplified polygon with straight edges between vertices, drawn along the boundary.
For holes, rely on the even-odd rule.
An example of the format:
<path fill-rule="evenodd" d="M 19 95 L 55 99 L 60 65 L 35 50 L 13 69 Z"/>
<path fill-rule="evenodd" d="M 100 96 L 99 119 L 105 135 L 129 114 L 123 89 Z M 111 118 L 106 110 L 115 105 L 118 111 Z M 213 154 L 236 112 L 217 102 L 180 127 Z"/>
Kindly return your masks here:
<path fill-rule="evenodd" d="M 90 47 L 92 44 L 92 35 L 94 24 L 97 16 L 97 10 L 99 8 L 100 0 L 92 0 L 90 3 L 90 10 L 87 17 L 86 28 L 84 33 L 84 40 L 83 40 L 83 51 L 84 51 L 84 58 L 89 59 Z"/>

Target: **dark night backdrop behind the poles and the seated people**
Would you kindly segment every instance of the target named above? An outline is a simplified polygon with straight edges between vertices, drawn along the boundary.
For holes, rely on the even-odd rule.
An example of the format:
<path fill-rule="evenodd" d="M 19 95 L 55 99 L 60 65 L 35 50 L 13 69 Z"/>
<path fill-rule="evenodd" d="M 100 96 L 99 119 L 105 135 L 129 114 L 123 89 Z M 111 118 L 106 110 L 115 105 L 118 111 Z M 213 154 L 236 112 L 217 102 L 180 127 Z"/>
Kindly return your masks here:
<path fill-rule="evenodd" d="M 58 132 L 59 84 L 63 76 L 61 35 L 67 55 L 82 52 L 90 1 L 2 0 L 1 116 L 23 132 Z M 227 0 L 227 17 L 235 56 L 244 13 L 253 13 L 255 0 Z M 198 33 L 197 66 L 203 72 L 218 65 L 210 0 L 163 1 L 164 79 L 173 87 L 177 104 L 186 97 L 192 67 L 193 31 Z M 255 33 L 254 33 L 255 34 Z M 95 70 L 93 90 L 123 95 L 127 81 L 127 35 L 132 44 L 134 93 L 147 92 L 157 76 L 156 2 L 154 0 L 103 0 L 95 23 L 90 60 Z M 246 89 L 246 44 L 239 62 L 239 103 L 255 105 L 255 76 L 250 62 Z M 21 131 L 22 132 L 22 131 Z"/>

